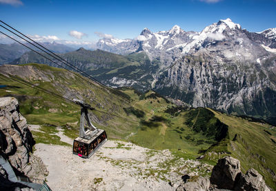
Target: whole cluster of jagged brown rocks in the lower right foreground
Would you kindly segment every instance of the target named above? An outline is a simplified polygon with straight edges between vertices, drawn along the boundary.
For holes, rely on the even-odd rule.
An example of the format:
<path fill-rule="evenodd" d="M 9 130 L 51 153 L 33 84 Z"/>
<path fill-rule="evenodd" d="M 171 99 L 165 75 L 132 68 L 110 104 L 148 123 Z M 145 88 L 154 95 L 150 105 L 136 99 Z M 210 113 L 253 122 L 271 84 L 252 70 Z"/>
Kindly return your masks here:
<path fill-rule="evenodd" d="M 179 190 L 235 190 L 235 191 L 270 191 L 263 177 L 257 170 L 250 168 L 246 174 L 241 172 L 238 159 L 224 157 L 213 168 L 210 181 L 199 177 L 196 181 L 181 183 Z"/>

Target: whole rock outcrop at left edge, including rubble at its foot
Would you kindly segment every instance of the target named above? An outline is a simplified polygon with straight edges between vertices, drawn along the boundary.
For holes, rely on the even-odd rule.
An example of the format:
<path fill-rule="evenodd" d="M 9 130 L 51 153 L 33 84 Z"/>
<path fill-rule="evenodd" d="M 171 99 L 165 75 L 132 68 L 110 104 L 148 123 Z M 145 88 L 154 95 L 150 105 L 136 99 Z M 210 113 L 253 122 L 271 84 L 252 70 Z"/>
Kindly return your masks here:
<path fill-rule="evenodd" d="M 26 118 L 19 112 L 19 103 L 14 97 L 0 98 L 0 154 L 8 160 L 16 176 L 43 179 L 47 174 L 41 159 L 33 156 L 34 139 Z M 8 180 L 6 170 L 0 165 L 0 188 L 4 190 L 27 189 L 20 183 Z M 0 189 L 1 190 L 1 189 Z"/>

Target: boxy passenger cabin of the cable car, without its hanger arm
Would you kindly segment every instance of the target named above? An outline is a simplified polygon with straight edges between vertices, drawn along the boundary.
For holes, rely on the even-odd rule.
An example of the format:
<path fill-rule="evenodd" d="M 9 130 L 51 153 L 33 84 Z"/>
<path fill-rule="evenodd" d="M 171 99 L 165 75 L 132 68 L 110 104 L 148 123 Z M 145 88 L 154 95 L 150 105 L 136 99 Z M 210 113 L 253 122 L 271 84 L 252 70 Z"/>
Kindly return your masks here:
<path fill-rule="evenodd" d="M 107 141 L 106 131 L 99 130 L 94 139 L 77 137 L 73 144 L 73 154 L 79 157 L 90 158 Z"/>

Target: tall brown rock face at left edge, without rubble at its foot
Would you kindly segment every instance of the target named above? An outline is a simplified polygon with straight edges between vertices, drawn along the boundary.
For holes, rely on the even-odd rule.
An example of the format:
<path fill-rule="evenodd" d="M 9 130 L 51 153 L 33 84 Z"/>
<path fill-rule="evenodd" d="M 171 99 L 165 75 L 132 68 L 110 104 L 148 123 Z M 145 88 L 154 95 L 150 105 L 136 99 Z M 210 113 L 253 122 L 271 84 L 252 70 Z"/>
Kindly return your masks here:
<path fill-rule="evenodd" d="M 0 152 L 22 174 L 30 171 L 29 152 L 33 144 L 27 121 L 19 112 L 17 99 L 0 98 Z"/>

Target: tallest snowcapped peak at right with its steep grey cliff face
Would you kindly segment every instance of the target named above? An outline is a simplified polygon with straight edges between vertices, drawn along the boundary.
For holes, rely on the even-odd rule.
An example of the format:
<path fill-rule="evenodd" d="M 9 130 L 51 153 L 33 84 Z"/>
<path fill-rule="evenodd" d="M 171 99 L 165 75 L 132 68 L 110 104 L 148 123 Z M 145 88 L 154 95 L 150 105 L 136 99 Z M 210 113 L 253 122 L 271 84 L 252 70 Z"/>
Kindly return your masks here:
<path fill-rule="evenodd" d="M 276 55 L 268 51 L 272 41 L 264 34 L 249 35 L 230 20 L 214 23 L 159 76 L 155 89 L 194 107 L 275 117 Z"/>

